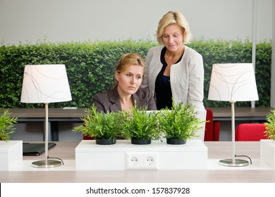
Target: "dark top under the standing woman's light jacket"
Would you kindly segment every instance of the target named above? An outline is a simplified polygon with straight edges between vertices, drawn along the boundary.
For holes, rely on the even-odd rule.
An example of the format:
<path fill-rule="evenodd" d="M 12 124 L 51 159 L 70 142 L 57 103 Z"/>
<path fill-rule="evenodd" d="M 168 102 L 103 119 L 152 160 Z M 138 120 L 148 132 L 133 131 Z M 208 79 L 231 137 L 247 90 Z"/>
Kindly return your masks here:
<path fill-rule="evenodd" d="M 156 93 L 156 104 L 157 109 L 161 110 L 162 108 L 169 108 L 172 107 L 172 91 L 171 91 L 171 84 L 170 84 L 170 77 L 164 75 L 164 70 L 167 66 L 167 63 L 164 58 L 164 54 L 166 51 L 166 47 L 161 50 L 161 63 L 162 68 L 159 72 L 159 75 L 157 75 L 157 79 L 155 82 L 155 93 Z M 181 56 L 182 58 L 182 56 Z M 181 58 L 177 61 L 181 61 Z"/>

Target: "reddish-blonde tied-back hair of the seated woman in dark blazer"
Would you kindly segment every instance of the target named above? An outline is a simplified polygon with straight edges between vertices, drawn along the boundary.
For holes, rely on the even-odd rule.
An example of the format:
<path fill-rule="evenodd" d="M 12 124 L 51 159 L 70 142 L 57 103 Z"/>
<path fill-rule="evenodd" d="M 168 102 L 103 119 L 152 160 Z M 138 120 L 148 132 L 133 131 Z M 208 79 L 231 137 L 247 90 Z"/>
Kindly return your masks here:
<path fill-rule="evenodd" d="M 116 65 L 116 72 L 121 73 L 127 70 L 131 65 L 140 65 L 143 68 L 145 67 L 145 63 L 138 53 L 128 53 L 121 57 L 121 60 Z M 144 70 L 143 70 L 144 72 Z M 115 77 L 115 87 L 117 86 L 118 81 Z"/>

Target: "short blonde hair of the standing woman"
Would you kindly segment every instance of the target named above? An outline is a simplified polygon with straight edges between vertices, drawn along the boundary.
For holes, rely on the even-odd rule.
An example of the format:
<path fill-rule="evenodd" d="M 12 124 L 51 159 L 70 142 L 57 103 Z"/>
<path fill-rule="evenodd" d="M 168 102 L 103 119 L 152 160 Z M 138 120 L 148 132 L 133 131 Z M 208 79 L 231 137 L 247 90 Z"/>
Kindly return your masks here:
<path fill-rule="evenodd" d="M 180 26 L 183 30 L 183 44 L 187 44 L 192 39 L 192 34 L 190 32 L 190 26 L 184 15 L 179 11 L 169 11 L 166 13 L 161 20 L 159 20 L 159 26 L 157 27 L 157 42 L 159 44 L 164 44 L 162 41 L 162 34 L 164 33 L 164 28 L 168 25 L 176 24 Z"/>

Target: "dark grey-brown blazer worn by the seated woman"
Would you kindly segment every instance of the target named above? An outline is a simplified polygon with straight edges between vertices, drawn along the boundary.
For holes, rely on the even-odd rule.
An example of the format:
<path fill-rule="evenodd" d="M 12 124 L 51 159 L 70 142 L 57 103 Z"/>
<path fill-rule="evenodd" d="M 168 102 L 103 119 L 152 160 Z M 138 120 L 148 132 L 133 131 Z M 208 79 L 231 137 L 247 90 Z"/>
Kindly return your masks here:
<path fill-rule="evenodd" d="M 138 89 L 132 97 L 133 101 L 137 102 L 138 108 L 147 107 L 147 110 L 157 110 L 152 91 L 149 91 L 148 88 Z M 121 101 L 116 88 L 110 89 L 104 93 L 95 94 L 92 103 L 97 106 L 99 112 L 103 113 L 121 110 Z"/>

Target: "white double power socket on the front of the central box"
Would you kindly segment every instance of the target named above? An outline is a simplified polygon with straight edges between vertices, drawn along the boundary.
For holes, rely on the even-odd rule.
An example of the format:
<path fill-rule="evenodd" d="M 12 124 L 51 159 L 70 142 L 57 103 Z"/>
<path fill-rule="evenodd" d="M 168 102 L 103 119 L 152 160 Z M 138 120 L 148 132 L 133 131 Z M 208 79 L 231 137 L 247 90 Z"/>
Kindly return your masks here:
<path fill-rule="evenodd" d="M 128 152 L 126 153 L 127 169 L 157 169 L 158 153 Z"/>

